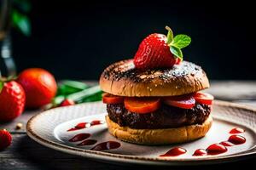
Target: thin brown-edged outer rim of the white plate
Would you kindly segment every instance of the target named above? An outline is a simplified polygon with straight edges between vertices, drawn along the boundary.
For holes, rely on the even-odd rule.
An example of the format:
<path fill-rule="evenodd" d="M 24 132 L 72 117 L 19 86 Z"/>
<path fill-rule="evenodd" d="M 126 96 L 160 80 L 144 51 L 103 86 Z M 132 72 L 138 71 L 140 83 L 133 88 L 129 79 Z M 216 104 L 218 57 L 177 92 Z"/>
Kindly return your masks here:
<path fill-rule="evenodd" d="M 79 104 L 79 105 L 84 105 L 84 104 Z M 240 104 L 231 103 L 231 102 L 222 101 L 222 100 L 214 100 L 213 105 L 235 107 L 236 109 L 252 111 L 253 114 L 256 114 L 256 108 L 253 108 L 247 105 L 240 105 Z M 66 106 L 66 107 L 75 107 L 75 106 Z M 59 109 L 61 108 L 55 108 L 54 110 L 59 110 Z M 74 148 L 72 146 L 68 146 L 65 144 L 59 144 L 49 139 L 43 139 L 40 136 L 38 136 L 38 134 L 32 130 L 32 123 L 36 118 L 38 118 L 38 116 L 42 116 L 44 114 L 52 114 L 52 111 L 43 111 L 35 116 L 32 116 L 29 119 L 29 121 L 26 123 L 26 133 L 31 139 L 35 140 L 39 144 L 43 144 L 44 146 L 54 150 L 59 150 L 59 151 L 73 154 L 76 156 L 84 156 L 90 159 L 96 159 L 100 161 L 111 160 L 115 162 L 125 161 L 125 163 L 131 163 L 131 164 L 150 163 L 152 165 L 157 164 L 157 165 L 174 165 L 175 166 L 175 165 L 180 165 L 181 162 L 186 162 L 183 165 L 193 165 L 193 164 L 211 164 L 211 163 L 217 163 L 222 161 L 226 161 L 226 162 L 236 161 L 236 160 L 240 160 L 243 158 L 245 159 L 246 157 L 252 157 L 256 155 L 255 146 L 253 146 L 250 150 L 245 150 L 241 153 L 236 153 L 228 156 L 201 157 L 197 159 L 193 159 L 193 158 L 189 158 L 189 159 L 173 158 L 172 159 L 172 158 L 159 158 L 159 157 L 146 157 L 146 156 L 130 156 L 130 155 L 113 154 L 113 153 L 96 151 L 96 150 L 84 150 L 84 149 Z"/>

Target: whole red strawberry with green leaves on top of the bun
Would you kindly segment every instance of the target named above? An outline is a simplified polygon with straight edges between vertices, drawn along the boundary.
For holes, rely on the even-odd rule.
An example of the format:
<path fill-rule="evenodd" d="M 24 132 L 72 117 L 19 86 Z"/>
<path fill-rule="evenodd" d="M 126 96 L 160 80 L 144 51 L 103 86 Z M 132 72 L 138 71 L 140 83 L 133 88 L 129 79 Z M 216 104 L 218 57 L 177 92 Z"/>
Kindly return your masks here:
<path fill-rule="evenodd" d="M 182 48 L 191 42 L 187 35 L 173 37 L 172 29 L 166 26 L 167 36 L 159 33 L 150 34 L 140 43 L 134 56 L 134 65 L 138 69 L 172 67 L 183 60 Z"/>

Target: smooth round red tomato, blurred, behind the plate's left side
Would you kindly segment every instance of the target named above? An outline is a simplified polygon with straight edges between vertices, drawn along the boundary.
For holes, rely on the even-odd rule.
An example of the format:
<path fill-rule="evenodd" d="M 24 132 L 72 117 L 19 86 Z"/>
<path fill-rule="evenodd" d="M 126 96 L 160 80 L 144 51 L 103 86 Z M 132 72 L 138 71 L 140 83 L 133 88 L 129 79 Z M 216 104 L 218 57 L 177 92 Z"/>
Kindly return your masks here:
<path fill-rule="evenodd" d="M 57 92 L 55 77 L 44 69 L 26 69 L 20 73 L 17 82 L 25 90 L 27 108 L 49 104 Z"/>

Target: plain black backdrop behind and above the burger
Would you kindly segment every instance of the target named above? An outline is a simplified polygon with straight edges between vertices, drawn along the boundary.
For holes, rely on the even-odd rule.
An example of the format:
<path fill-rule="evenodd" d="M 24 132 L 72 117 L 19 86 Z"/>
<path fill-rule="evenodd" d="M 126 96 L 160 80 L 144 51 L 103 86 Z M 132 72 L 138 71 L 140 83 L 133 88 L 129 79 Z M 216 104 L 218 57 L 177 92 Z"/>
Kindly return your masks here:
<path fill-rule="evenodd" d="M 32 1 L 32 36 L 13 31 L 21 71 L 43 67 L 57 79 L 98 79 L 102 70 L 132 58 L 148 34 L 192 38 L 184 59 L 211 79 L 256 79 L 254 5 L 249 1 Z"/>

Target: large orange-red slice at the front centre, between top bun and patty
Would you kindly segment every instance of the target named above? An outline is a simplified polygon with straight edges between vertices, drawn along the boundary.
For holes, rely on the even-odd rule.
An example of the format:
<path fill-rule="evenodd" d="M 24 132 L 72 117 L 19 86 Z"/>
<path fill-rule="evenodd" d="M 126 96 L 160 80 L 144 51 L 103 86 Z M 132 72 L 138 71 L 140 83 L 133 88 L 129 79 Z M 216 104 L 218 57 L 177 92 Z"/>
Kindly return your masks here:
<path fill-rule="evenodd" d="M 125 98 L 125 108 L 135 113 L 149 113 L 160 108 L 159 98 Z"/>

